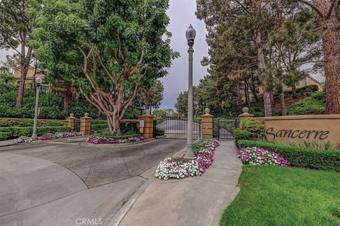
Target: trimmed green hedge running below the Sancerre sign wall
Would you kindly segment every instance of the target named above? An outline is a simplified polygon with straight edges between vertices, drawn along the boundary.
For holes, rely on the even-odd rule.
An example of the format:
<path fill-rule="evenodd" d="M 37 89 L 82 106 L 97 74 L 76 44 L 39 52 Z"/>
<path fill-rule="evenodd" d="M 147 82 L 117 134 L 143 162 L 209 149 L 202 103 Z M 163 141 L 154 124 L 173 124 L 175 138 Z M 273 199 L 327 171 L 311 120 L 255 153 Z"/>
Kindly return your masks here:
<path fill-rule="evenodd" d="M 271 152 L 278 152 L 287 159 L 292 166 L 340 172 L 340 151 L 320 151 L 303 147 L 291 147 L 289 145 L 276 144 L 263 140 L 239 140 L 237 141 L 237 146 L 239 148 L 262 147 Z"/>

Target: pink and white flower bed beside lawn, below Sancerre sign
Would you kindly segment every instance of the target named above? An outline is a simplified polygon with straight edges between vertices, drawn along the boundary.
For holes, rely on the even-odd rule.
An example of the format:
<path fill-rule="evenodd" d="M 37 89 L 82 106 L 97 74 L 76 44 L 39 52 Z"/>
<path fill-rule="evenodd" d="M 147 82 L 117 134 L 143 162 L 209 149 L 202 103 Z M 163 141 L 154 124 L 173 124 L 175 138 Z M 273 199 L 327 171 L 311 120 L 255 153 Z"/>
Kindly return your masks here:
<path fill-rule="evenodd" d="M 249 165 L 289 166 L 289 162 L 276 152 L 269 152 L 261 147 L 244 147 L 239 149 L 237 157 Z"/>

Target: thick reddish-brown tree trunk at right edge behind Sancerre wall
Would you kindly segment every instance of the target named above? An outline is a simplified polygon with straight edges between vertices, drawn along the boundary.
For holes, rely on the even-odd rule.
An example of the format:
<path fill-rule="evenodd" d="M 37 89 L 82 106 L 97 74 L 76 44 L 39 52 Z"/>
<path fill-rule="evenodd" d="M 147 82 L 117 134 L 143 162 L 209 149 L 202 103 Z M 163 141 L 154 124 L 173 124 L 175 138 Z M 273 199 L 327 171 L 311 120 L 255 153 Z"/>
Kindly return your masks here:
<path fill-rule="evenodd" d="M 319 17 L 324 47 L 324 75 L 326 77 L 326 112 L 340 113 L 340 19 L 334 9 L 327 18 L 331 0 L 314 0 L 314 5 L 324 13 Z"/>

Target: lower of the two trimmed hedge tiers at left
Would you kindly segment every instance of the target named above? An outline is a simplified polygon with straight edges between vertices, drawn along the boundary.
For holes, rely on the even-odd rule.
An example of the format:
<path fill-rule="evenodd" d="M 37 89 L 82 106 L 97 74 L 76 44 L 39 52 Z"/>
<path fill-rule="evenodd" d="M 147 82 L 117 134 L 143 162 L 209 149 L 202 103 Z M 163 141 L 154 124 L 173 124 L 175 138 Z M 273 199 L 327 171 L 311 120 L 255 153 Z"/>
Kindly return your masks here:
<path fill-rule="evenodd" d="M 71 132 L 69 125 L 63 126 L 45 126 L 37 128 L 37 135 L 43 136 L 55 132 Z M 10 133 L 10 135 L 8 135 Z M 33 127 L 2 127 L 0 128 L 1 135 L 5 138 L 4 140 L 13 139 L 17 137 L 26 136 L 29 137 L 33 133 Z"/>

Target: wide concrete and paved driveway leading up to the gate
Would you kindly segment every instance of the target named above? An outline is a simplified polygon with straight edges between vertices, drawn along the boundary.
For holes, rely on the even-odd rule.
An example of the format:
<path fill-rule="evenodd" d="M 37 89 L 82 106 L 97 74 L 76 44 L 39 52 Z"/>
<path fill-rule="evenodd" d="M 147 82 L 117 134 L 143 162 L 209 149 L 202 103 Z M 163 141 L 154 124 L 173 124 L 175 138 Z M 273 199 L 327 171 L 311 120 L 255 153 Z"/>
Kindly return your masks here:
<path fill-rule="evenodd" d="M 84 140 L 1 147 L 0 225 L 106 225 L 147 180 L 140 174 L 186 143 L 84 147 Z"/>

